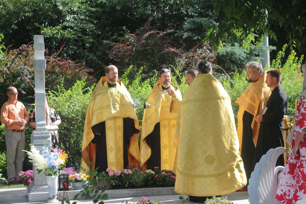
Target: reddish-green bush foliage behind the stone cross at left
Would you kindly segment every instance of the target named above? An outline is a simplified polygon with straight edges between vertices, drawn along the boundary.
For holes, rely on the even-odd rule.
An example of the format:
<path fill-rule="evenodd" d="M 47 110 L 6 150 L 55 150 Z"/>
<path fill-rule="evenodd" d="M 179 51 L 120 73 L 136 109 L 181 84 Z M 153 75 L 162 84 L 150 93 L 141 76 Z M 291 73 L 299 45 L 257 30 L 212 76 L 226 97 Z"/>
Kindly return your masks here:
<path fill-rule="evenodd" d="M 47 90 L 54 90 L 60 84 L 63 77 L 66 78 L 66 87 L 70 87 L 76 80 L 88 76 L 90 69 L 80 62 L 74 62 L 60 56 L 60 51 L 47 55 L 46 50 L 46 70 L 45 87 Z M 0 56 L 0 89 L 6 90 L 9 86 L 17 88 L 21 100 L 28 108 L 34 102 L 34 53 L 32 44 L 22 45 L 14 50 L 6 50 Z M 88 81 L 92 82 L 92 77 L 88 76 Z M 7 101 L 5 91 L 0 93 L 0 104 Z"/>

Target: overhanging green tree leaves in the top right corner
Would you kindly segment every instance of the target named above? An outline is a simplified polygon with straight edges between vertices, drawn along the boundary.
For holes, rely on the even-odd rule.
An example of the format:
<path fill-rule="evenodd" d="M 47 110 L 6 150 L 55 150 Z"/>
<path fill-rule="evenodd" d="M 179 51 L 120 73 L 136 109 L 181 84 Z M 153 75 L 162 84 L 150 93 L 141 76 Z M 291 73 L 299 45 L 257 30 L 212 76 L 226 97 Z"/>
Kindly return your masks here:
<path fill-rule="evenodd" d="M 192 1 L 179 0 L 179 3 L 187 5 Z M 213 0 L 213 3 L 214 12 L 220 20 L 218 24 L 206 27 L 207 35 L 203 41 L 211 42 L 214 50 L 221 50 L 223 42 L 240 42 L 250 50 L 250 45 L 263 44 L 264 35 L 277 40 L 271 25 L 282 28 L 291 49 L 300 48 L 306 42 L 306 36 L 302 34 L 306 26 L 306 6 L 303 0 Z"/>

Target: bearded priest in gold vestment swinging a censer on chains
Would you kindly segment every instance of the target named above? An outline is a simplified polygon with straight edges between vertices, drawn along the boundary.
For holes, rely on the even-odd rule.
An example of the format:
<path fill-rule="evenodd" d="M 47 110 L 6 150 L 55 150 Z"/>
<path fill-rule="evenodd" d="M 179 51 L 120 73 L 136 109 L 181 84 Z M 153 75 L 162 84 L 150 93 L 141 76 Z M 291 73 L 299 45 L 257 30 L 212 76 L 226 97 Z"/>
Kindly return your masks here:
<path fill-rule="evenodd" d="M 182 100 L 181 92 L 171 83 L 171 71 L 159 71 L 159 80 L 154 85 L 147 103 L 152 104 L 144 110 L 141 128 L 140 160 L 142 169 L 172 170 L 176 147 L 174 130 L 177 109 Z M 166 90 L 166 93 L 159 94 Z M 158 102 L 155 102 L 161 96 Z"/>

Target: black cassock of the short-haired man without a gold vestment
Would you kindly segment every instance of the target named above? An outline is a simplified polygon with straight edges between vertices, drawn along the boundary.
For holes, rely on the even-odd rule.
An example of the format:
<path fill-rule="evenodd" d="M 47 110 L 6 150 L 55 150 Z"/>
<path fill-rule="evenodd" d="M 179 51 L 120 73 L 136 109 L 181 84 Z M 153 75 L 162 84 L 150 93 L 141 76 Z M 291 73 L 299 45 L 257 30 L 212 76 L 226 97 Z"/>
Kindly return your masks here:
<path fill-rule="evenodd" d="M 281 86 L 277 86 L 273 89 L 267 101 L 267 111 L 263 115 L 263 121 L 260 123 L 253 169 L 269 149 L 284 146 L 284 131 L 281 127 L 284 126 L 283 115 L 286 114 L 287 106 L 287 94 Z M 276 165 L 284 166 L 283 155 L 278 157 Z"/>

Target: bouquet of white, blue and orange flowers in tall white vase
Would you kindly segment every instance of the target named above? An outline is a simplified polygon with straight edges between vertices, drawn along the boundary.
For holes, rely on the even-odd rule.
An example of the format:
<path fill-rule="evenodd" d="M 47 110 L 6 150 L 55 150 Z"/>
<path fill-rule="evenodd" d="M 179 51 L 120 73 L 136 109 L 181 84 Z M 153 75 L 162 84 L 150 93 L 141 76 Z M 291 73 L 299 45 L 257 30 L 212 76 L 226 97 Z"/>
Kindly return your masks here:
<path fill-rule="evenodd" d="M 25 150 L 23 150 L 25 151 Z M 56 176 L 59 170 L 63 168 L 65 159 L 68 155 L 61 149 L 48 149 L 46 146 L 43 147 L 43 155 L 41 155 L 33 145 L 31 145 L 28 153 L 30 162 L 36 165 L 36 169 L 39 173 L 44 173 L 46 176 Z"/>

